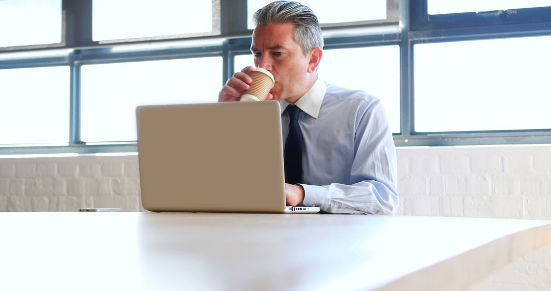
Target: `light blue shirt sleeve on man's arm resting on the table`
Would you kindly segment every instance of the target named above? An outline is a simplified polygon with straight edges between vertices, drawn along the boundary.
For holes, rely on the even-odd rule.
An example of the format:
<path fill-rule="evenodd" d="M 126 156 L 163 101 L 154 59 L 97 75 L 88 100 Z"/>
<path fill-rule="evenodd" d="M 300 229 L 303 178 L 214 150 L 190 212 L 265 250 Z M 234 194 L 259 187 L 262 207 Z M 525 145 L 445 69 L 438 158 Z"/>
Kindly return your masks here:
<path fill-rule="evenodd" d="M 396 149 L 377 100 L 358 122 L 350 184 L 303 185 L 305 206 L 330 213 L 393 214 L 398 207 Z"/>

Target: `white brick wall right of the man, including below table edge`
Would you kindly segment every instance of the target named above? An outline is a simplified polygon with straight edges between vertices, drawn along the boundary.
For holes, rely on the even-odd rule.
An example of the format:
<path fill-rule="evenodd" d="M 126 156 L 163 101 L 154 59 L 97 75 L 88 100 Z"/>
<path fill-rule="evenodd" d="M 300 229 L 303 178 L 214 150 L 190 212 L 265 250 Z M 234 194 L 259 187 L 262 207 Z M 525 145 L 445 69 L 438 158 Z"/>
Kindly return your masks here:
<path fill-rule="evenodd" d="M 398 214 L 551 219 L 551 146 L 399 148 Z M 551 290 L 551 245 L 469 290 Z"/>

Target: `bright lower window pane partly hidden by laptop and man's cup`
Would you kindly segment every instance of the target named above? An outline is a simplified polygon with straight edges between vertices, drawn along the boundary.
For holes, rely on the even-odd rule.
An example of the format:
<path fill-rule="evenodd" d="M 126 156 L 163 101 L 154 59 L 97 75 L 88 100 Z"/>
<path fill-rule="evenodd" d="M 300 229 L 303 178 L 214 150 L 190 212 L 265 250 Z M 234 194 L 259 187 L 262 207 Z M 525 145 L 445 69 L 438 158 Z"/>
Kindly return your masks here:
<path fill-rule="evenodd" d="M 138 105 L 218 101 L 222 57 L 89 64 L 81 78 L 82 141 L 136 141 Z"/>

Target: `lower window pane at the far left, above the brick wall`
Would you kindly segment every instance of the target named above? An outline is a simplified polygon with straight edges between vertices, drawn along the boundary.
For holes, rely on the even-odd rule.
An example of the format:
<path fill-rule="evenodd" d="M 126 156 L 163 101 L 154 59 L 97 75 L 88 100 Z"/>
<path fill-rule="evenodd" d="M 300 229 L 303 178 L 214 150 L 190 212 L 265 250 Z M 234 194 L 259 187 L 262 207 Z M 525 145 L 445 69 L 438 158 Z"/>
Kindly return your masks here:
<path fill-rule="evenodd" d="M 69 67 L 0 69 L 0 144 L 69 142 Z"/>

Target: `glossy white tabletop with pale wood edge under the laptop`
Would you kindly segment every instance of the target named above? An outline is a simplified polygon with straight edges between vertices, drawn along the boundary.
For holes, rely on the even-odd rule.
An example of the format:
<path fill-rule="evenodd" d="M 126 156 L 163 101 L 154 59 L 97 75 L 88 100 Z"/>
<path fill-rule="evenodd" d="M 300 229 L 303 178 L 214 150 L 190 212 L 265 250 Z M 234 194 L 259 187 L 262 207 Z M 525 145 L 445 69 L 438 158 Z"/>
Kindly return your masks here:
<path fill-rule="evenodd" d="M 322 214 L 0 213 L 0 289 L 459 290 L 551 222 Z"/>

